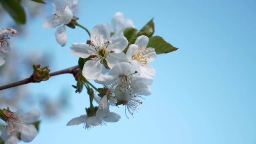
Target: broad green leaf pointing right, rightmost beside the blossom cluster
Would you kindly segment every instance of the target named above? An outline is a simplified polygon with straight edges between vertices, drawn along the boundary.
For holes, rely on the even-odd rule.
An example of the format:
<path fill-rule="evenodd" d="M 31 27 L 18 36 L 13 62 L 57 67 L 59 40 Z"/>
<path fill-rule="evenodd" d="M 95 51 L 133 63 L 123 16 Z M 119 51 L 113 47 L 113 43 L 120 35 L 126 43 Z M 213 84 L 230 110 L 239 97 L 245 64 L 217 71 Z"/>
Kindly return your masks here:
<path fill-rule="evenodd" d="M 157 54 L 161 53 L 170 53 L 176 51 L 178 48 L 172 46 L 170 43 L 167 43 L 162 37 L 154 36 L 149 38 L 148 48 L 155 48 Z"/>

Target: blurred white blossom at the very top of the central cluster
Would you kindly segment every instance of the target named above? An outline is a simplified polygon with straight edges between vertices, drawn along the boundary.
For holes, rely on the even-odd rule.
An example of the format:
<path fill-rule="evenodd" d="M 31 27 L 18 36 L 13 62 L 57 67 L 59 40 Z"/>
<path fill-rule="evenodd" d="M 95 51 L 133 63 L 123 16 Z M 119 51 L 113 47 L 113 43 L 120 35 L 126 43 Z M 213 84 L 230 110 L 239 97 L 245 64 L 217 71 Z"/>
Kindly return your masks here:
<path fill-rule="evenodd" d="M 131 19 L 125 19 L 123 13 L 120 12 L 115 13 L 112 17 L 111 25 L 115 33 L 123 32 L 128 27 L 134 28 L 133 21 Z"/>

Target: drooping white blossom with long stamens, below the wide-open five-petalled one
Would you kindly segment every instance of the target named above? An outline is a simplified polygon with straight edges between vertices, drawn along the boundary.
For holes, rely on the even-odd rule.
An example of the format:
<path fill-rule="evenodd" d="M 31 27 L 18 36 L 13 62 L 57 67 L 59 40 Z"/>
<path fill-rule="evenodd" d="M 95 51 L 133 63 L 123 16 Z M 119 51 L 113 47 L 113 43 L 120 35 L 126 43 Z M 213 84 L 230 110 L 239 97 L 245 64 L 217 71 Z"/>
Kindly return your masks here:
<path fill-rule="evenodd" d="M 103 85 L 111 84 L 111 89 L 117 99 L 116 105 L 125 105 L 125 115 L 126 108 L 133 115 L 137 111 L 138 104 L 142 104 L 139 100 L 142 98 L 141 95 L 148 96 L 151 94 L 151 89 L 148 85 L 152 84 L 153 79 L 152 77 L 139 75 L 132 64 L 122 62 L 116 64 L 109 75 L 100 75 L 95 82 Z"/>

